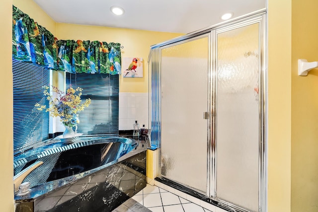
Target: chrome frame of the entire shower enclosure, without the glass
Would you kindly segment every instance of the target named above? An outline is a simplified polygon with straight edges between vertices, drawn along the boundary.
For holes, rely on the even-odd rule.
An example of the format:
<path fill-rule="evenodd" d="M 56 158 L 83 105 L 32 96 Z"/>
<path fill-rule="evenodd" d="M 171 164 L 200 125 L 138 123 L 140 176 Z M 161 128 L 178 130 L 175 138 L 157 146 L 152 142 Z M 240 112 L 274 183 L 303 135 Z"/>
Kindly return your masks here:
<path fill-rule="evenodd" d="M 267 33 L 266 9 L 240 16 L 236 19 L 220 23 L 202 30 L 189 33 L 175 39 L 156 44 L 151 47 L 148 62 L 151 77 L 149 80 L 151 138 L 152 144 L 161 147 L 161 50 L 168 46 L 186 43 L 189 40 L 205 37 L 210 34 L 209 47 L 209 119 L 208 119 L 208 149 L 207 149 L 207 192 L 208 198 L 215 200 L 225 208 L 235 209 L 238 212 L 251 212 L 248 209 L 222 200 L 217 196 L 217 140 L 216 140 L 216 95 L 217 95 L 217 35 L 222 32 L 237 29 L 243 26 L 259 23 L 259 143 L 258 143 L 258 212 L 267 212 Z M 160 157 L 161 153 L 158 154 Z M 160 172 L 160 158 L 157 169 Z M 184 185 L 187 187 L 187 185 Z M 191 188 L 193 189 L 193 188 Z M 196 190 L 197 191 L 197 190 Z M 197 191 L 198 192 L 198 191 Z M 202 193 L 202 192 L 201 192 Z"/>

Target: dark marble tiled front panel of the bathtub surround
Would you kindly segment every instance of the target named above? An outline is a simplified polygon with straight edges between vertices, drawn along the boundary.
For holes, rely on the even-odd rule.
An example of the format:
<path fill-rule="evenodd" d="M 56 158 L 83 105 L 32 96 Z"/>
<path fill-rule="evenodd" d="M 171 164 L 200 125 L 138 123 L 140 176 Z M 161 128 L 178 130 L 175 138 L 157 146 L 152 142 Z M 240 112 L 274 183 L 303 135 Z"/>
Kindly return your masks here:
<path fill-rule="evenodd" d="M 35 201 L 36 212 L 111 212 L 146 186 L 145 177 L 122 164 L 98 171 Z"/>

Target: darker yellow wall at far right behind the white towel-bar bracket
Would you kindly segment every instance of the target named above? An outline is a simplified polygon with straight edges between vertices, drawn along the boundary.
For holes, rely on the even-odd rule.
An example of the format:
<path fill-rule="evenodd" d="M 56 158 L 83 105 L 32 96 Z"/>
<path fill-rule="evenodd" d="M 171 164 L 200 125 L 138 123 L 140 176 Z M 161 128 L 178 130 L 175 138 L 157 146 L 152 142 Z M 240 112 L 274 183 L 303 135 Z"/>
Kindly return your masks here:
<path fill-rule="evenodd" d="M 292 0 L 292 212 L 318 212 L 318 68 L 298 76 L 298 59 L 318 61 L 317 8 Z"/>

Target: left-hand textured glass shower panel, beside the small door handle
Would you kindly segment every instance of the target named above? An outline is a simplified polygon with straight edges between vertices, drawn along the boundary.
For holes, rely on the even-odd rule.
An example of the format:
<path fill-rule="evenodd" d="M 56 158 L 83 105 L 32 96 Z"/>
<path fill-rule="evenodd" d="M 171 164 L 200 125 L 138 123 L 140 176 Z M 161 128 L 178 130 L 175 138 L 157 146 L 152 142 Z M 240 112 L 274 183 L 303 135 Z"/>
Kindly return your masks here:
<path fill-rule="evenodd" d="M 206 193 L 209 38 L 161 53 L 161 175 Z"/>

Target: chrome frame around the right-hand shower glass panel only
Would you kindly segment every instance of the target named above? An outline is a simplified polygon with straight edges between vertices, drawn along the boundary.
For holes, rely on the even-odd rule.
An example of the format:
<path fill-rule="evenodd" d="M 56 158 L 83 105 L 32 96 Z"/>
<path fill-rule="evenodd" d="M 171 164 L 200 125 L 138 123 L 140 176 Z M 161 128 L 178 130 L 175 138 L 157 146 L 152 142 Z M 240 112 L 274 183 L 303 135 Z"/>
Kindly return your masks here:
<path fill-rule="evenodd" d="M 250 212 L 246 208 L 242 208 L 226 200 L 220 199 L 217 196 L 217 36 L 220 33 L 238 29 L 240 27 L 259 24 L 259 138 L 258 138 L 258 212 L 267 211 L 267 106 L 266 106 L 266 94 L 267 94 L 267 52 L 266 52 L 266 13 L 265 11 L 251 15 L 242 19 L 241 21 L 234 22 L 230 25 L 219 26 L 211 31 L 212 34 L 212 111 L 213 117 L 211 118 L 212 126 L 212 153 L 211 158 L 212 165 L 212 183 L 211 183 L 211 199 L 217 201 L 220 205 L 225 207 L 236 209 L 240 212 Z"/>

